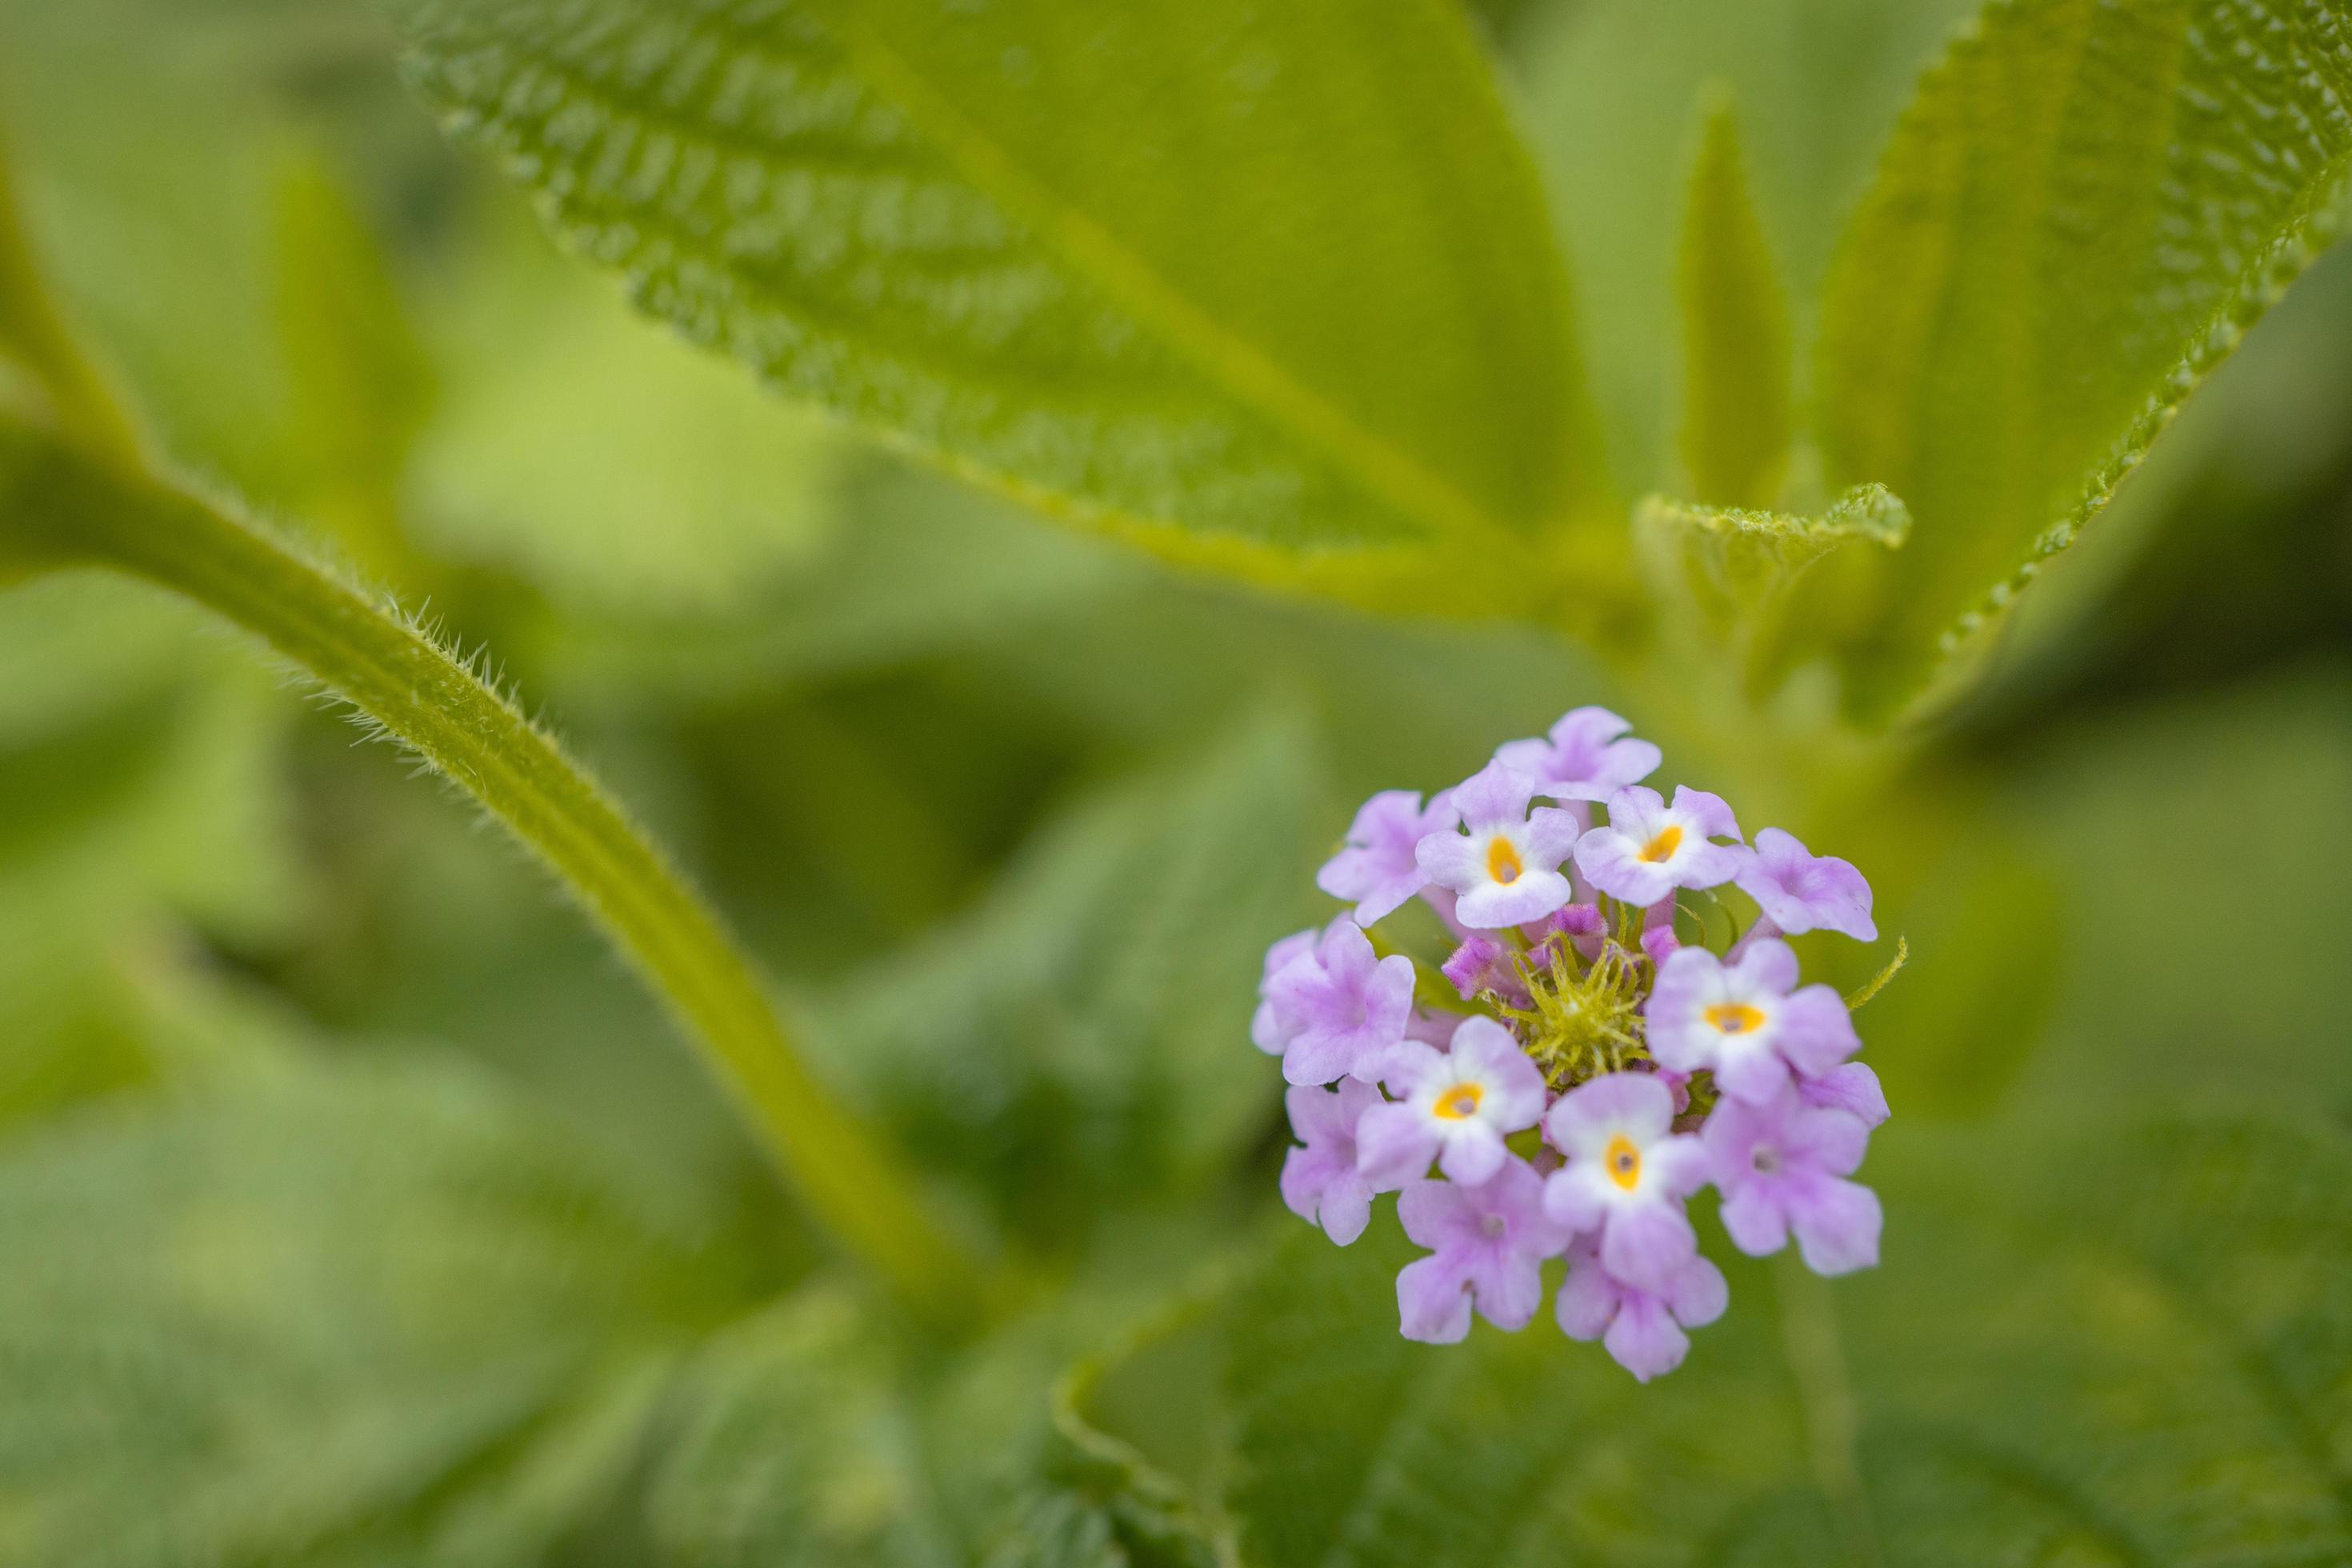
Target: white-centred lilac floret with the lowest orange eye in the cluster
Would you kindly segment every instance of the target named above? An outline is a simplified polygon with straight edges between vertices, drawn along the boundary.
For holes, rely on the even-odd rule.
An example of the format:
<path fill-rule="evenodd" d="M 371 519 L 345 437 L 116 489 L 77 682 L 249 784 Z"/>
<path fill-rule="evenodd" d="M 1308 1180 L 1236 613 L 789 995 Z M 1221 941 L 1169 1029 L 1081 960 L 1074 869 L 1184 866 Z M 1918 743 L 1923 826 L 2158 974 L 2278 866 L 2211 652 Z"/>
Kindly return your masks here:
<path fill-rule="evenodd" d="M 1543 1133 L 1569 1161 L 1543 1182 L 1543 1213 L 1597 1232 L 1616 1279 L 1665 1291 L 1698 1253 L 1682 1199 L 1708 1180 L 1698 1138 L 1675 1133 L 1675 1091 L 1646 1072 L 1609 1072 L 1559 1095 Z"/>

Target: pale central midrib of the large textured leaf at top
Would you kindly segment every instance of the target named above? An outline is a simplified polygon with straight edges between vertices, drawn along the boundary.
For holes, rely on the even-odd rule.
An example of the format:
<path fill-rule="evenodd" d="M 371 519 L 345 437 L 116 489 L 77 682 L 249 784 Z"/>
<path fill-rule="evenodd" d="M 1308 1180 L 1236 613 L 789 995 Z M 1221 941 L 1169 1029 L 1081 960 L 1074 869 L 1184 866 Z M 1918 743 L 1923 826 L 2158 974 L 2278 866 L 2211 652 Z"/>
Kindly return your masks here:
<path fill-rule="evenodd" d="M 1284 371 L 1254 341 L 1200 310 L 1115 233 L 1030 176 L 875 28 L 847 9 L 828 9 L 823 26 L 856 61 L 858 75 L 929 134 L 943 160 L 1025 219 L 1075 273 L 1127 306 L 1160 343 L 1207 371 L 1237 402 L 1322 451 L 1364 491 L 1437 536 L 1496 541 L 1515 534 L 1484 505 Z"/>

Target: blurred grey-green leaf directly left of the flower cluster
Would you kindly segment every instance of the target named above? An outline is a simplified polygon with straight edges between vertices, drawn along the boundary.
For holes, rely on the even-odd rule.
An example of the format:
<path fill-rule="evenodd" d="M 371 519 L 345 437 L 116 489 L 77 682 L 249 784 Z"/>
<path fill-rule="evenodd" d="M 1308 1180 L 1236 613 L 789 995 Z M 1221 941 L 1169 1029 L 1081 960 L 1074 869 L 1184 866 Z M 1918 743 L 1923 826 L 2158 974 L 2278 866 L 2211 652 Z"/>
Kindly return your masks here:
<path fill-rule="evenodd" d="M 1294 729 L 1254 724 L 1082 802 L 969 917 L 844 980 L 818 1044 L 1040 1232 L 1218 1173 L 1272 1114 L 1232 1041 L 1265 943 L 1315 914 L 1312 799 Z"/>

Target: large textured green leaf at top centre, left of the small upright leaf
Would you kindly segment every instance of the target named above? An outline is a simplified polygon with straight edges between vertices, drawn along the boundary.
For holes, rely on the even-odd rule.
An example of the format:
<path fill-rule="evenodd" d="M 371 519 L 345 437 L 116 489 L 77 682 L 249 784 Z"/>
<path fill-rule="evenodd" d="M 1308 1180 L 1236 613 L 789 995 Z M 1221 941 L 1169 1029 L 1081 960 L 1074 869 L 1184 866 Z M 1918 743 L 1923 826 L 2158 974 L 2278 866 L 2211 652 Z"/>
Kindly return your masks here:
<path fill-rule="evenodd" d="M 1592 482 L 1454 5 L 405 12 L 423 94 L 654 315 L 1061 517 L 1494 536 Z"/>

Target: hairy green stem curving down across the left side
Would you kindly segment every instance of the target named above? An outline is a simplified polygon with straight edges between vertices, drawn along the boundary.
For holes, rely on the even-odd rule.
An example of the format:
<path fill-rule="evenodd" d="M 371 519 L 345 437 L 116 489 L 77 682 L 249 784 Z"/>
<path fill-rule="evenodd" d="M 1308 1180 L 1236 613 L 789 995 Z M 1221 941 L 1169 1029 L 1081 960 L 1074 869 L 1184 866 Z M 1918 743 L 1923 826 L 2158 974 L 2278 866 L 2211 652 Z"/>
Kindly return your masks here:
<path fill-rule="evenodd" d="M 807 1067 L 717 917 L 553 738 L 395 609 L 278 538 L 151 477 L 14 435 L 0 425 L 0 534 L 226 616 L 473 795 L 668 999 L 809 1213 L 915 1312 L 971 1316 L 985 1281 L 913 1180 Z"/>

